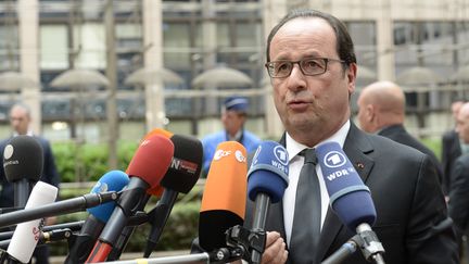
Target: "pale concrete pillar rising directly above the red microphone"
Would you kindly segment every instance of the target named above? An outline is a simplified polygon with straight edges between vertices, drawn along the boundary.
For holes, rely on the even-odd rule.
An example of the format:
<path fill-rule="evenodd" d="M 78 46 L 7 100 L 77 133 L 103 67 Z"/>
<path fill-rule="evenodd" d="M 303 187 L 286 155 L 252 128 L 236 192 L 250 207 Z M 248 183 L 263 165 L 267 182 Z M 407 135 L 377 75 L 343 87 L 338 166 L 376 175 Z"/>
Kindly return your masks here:
<path fill-rule="evenodd" d="M 148 68 L 163 67 L 163 10 L 161 0 L 143 0 L 143 54 L 144 66 Z M 145 120 L 147 130 L 163 127 L 166 120 L 163 81 L 145 86 Z"/>

